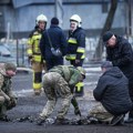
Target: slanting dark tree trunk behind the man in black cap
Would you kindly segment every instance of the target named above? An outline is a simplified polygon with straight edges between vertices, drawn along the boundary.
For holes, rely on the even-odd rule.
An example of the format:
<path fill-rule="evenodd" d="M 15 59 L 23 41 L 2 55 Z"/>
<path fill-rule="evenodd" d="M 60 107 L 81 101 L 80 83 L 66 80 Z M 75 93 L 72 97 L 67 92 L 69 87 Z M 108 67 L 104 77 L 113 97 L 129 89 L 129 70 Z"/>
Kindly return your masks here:
<path fill-rule="evenodd" d="M 103 37 L 104 32 L 110 30 L 111 27 L 112 27 L 114 14 L 115 14 L 115 11 L 116 11 L 116 7 L 117 7 L 117 0 L 111 0 L 111 8 L 110 8 L 110 11 L 109 11 L 105 24 L 104 24 L 104 27 L 102 29 L 102 32 L 100 34 L 99 43 L 98 43 L 98 47 L 95 49 L 95 53 L 94 53 L 94 57 L 93 57 L 93 59 L 96 60 L 96 61 L 102 60 L 102 53 L 103 53 L 103 49 L 104 49 L 104 45 L 102 44 L 103 43 L 102 42 L 102 37 Z"/>

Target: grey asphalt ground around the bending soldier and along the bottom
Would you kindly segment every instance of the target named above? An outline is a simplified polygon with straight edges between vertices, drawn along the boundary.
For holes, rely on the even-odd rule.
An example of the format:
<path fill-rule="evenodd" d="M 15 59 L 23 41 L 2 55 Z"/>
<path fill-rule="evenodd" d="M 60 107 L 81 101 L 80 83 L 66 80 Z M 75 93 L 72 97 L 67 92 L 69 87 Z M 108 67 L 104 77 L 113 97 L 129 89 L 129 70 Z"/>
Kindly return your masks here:
<path fill-rule="evenodd" d="M 91 108 L 95 105 L 92 92 L 96 85 L 99 76 L 101 75 L 100 66 L 85 68 L 86 79 L 84 81 L 84 96 L 78 98 L 78 102 L 83 116 L 88 115 Z M 40 96 L 34 96 L 32 90 L 32 72 L 18 72 L 12 79 L 12 88 L 18 96 L 18 105 L 8 111 L 8 116 L 13 122 L 0 122 L 0 133 L 131 133 L 133 132 L 133 124 L 124 124 L 123 126 L 109 126 L 105 124 L 90 124 L 90 125 L 42 125 L 38 126 L 35 123 L 29 121 L 18 122 L 17 119 L 32 116 L 38 117 L 42 111 L 47 98 L 44 93 Z M 58 113 L 61 105 L 61 100 L 55 106 L 51 117 Z M 73 106 L 70 106 L 66 117 L 75 119 Z"/>

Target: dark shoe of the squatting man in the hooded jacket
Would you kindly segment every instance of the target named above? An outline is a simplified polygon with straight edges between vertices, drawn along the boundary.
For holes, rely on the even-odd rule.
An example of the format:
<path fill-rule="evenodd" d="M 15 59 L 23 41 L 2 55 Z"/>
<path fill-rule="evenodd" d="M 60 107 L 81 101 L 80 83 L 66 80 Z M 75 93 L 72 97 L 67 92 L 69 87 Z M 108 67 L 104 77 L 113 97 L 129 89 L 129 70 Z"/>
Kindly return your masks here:
<path fill-rule="evenodd" d="M 110 123 L 110 125 L 114 126 L 114 125 L 120 125 L 120 124 L 123 124 L 124 122 L 124 115 L 121 114 L 121 115 L 117 115 L 117 116 L 114 116 Z"/>

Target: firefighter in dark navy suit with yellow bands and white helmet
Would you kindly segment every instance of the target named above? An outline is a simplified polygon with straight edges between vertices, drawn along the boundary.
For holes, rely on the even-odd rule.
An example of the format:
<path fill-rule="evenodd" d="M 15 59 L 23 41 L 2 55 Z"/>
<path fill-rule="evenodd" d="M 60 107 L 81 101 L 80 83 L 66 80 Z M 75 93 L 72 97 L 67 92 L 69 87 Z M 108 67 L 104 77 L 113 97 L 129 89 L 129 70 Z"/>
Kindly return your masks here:
<path fill-rule="evenodd" d="M 81 18 L 78 14 L 73 14 L 70 18 L 70 31 L 69 31 L 69 47 L 66 60 L 74 66 L 82 66 L 85 58 L 85 32 L 81 28 Z M 78 96 L 83 95 L 83 82 L 79 82 L 75 86 L 75 94 Z"/>

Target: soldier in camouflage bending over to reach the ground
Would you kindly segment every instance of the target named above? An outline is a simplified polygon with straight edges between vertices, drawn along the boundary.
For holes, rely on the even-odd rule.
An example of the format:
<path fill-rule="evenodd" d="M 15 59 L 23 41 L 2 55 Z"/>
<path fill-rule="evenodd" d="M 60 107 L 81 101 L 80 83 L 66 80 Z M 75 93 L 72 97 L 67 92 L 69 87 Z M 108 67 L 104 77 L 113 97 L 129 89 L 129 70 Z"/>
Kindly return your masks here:
<path fill-rule="evenodd" d="M 68 113 L 70 104 L 74 106 L 74 113 L 81 115 L 76 100 L 73 99 L 73 89 L 79 81 L 85 79 L 85 71 L 79 66 L 58 65 L 49 70 L 43 75 L 43 89 L 48 98 L 48 102 L 40 113 L 37 124 L 41 125 L 45 119 L 53 112 L 59 98 L 62 99 L 61 110 L 58 112 L 55 123 L 65 123 L 64 117 Z"/>

